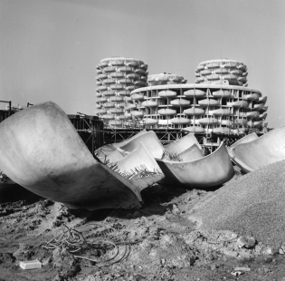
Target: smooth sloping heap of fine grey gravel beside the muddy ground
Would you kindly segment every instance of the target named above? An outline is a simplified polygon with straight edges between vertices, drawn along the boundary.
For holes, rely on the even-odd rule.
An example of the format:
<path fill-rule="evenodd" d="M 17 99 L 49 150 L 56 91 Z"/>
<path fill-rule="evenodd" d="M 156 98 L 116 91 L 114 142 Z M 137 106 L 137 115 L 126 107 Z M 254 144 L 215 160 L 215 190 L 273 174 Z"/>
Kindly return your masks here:
<path fill-rule="evenodd" d="M 270 247 L 285 243 L 285 160 L 214 191 L 191 214 L 200 228 L 252 235 Z"/>

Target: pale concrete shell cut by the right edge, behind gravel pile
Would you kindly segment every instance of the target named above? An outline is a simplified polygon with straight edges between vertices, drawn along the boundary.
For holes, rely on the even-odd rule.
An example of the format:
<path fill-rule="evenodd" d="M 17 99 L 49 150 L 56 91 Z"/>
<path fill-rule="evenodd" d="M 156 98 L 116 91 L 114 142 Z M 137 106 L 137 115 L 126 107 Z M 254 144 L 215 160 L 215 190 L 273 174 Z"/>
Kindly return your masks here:
<path fill-rule="evenodd" d="M 285 160 L 285 125 L 235 146 L 232 153 L 233 160 L 245 173 Z"/>

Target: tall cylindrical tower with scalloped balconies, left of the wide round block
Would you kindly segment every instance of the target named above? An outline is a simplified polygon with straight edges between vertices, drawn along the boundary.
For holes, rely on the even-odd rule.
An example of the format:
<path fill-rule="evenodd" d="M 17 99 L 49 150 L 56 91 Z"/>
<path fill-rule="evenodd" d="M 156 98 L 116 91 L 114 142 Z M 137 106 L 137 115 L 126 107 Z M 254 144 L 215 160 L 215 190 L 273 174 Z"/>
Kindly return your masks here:
<path fill-rule="evenodd" d="M 97 65 L 97 112 L 107 127 L 123 127 L 136 108 L 131 91 L 147 85 L 147 64 L 126 57 L 111 57 Z"/>

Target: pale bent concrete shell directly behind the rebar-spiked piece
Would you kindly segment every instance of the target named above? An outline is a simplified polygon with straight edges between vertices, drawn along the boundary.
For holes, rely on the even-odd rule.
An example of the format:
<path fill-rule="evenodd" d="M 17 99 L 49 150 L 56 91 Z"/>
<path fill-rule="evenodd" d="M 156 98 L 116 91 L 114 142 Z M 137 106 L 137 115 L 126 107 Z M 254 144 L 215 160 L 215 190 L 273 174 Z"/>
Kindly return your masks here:
<path fill-rule="evenodd" d="M 147 150 L 150 151 L 154 158 L 162 158 L 164 152 L 163 145 L 158 140 L 157 134 L 154 131 L 137 134 L 134 138 L 127 141 L 122 146 L 119 146 L 119 148 L 130 152 L 137 149 L 140 143 L 143 143 L 147 147 Z"/>

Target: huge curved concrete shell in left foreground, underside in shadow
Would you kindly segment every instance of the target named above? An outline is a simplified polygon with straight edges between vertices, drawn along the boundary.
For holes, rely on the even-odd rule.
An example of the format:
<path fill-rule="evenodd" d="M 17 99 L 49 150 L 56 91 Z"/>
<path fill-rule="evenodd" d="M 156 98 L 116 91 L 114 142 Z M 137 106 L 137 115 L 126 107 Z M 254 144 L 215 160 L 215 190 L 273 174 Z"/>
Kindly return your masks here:
<path fill-rule="evenodd" d="M 0 124 L 0 170 L 69 208 L 134 208 L 149 182 L 125 179 L 94 160 L 54 102 L 19 111 Z"/>

